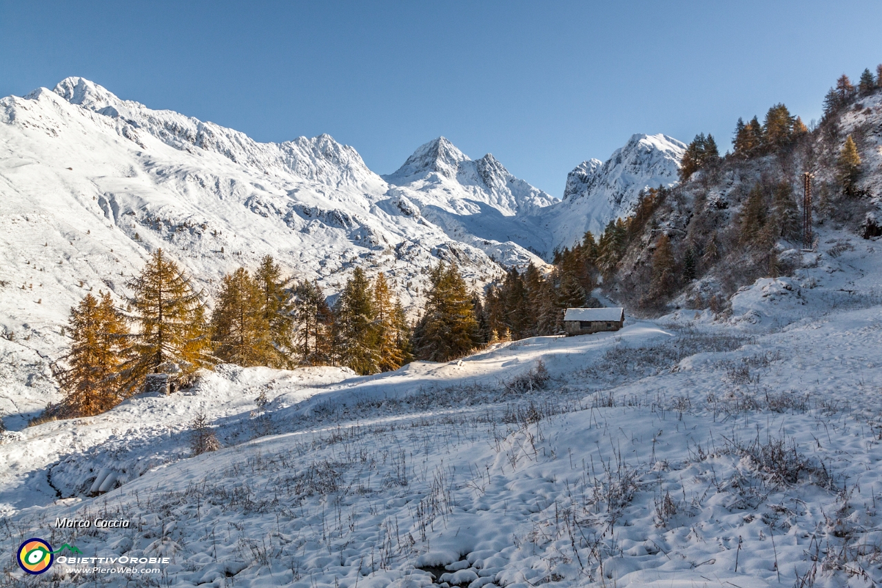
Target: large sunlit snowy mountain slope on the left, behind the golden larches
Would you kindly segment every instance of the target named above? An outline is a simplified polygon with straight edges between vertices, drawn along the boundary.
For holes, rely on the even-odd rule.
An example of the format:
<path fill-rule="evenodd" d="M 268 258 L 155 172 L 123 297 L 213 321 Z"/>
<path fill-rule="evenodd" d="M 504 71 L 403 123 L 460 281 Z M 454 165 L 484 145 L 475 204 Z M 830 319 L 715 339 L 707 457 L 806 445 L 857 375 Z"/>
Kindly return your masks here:
<path fill-rule="evenodd" d="M 328 294 L 356 265 L 384 271 L 405 305 L 439 259 L 475 288 L 501 271 L 327 135 L 258 143 L 81 78 L 0 100 L 0 193 L 0 372 L 11 374 L 0 396 L 14 414 L 56 400 L 43 376 L 71 305 L 90 290 L 122 297 L 158 247 L 209 295 L 265 254 Z"/>

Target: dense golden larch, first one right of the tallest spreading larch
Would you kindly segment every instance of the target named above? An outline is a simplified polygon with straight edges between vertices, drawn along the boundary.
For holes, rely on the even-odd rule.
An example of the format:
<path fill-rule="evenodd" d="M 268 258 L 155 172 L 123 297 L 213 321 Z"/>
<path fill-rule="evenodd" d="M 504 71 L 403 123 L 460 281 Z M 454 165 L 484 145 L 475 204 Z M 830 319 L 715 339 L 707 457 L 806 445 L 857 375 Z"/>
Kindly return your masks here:
<path fill-rule="evenodd" d="M 238 366 L 267 366 L 275 358 L 269 320 L 258 283 L 244 269 L 223 277 L 221 295 L 212 316 L 212 340 L 217 358 Z"/>

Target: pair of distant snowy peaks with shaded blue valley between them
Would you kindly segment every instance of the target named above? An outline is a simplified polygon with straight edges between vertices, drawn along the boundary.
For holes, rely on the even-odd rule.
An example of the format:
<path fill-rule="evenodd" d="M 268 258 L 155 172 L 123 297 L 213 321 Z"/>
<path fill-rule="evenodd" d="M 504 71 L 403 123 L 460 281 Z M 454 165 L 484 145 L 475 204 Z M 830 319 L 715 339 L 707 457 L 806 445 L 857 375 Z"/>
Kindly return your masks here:
<path fill-rule="evenodd" d="M 508 259 L 517 257 L 508 249 L 517 244 L 548 260 L 556 247 L 630 214 L 645 188 L 675 184 L 685 147 L 666 135 L 633 135 L 606 162 L 579 163 L 563 200 L 513 177 L 492 155 L 469 159 L 444 137 L 384 177 L 449 237 Z"/>

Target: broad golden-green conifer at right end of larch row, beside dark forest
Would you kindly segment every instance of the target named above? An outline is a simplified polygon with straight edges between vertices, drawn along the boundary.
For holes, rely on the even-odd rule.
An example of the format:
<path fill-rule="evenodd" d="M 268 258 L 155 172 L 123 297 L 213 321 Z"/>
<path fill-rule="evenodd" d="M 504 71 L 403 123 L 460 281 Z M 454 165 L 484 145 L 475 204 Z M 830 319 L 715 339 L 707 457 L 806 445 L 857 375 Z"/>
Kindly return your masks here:
<path fill-rule="evenodd" d="M 439 263 L 430 280 L 426 310 L 414 331 L 415 356 L 430 361 L 459 358 L 477 344 L 471 296 L 456 266 Z"/>

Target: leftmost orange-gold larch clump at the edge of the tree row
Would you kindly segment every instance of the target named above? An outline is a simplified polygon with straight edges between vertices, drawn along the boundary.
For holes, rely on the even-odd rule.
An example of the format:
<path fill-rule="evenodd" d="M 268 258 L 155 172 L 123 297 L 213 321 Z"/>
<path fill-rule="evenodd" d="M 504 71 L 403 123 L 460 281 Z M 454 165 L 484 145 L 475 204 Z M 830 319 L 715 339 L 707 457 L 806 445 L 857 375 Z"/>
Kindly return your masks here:
<path fill-rule="evenodd" d="M 108 411 L 121 399 L 119 368 L 129 334 L 125 320 L 107 292 L 100 302 L 86 294 L 71 308 L 68 323 L 71 351 L 65 359 L 70 368 L 57 374 L 64 391 L 62 414 L 88 417 Z"/>

